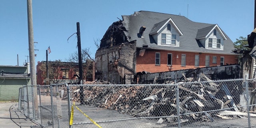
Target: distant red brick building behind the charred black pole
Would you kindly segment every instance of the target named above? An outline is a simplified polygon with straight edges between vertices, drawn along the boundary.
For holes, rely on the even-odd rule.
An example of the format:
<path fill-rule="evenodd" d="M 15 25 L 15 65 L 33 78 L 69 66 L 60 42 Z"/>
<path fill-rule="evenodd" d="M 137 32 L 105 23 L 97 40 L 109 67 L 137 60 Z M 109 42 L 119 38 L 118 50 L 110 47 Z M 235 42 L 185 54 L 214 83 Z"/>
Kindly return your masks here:
<path fill-rule="evenodd" d="M 36 84 L 46 85 L 46 61 L 38 62 L 36 65 Z M 42 68 L 40 68 L 42 67 Z M 78 82 L 79 74 L 78 63 L 75 62 L 60 62 L 60 61 L 49 61 L 48 62 L 48 72 L 50 83 L 68 83 L 76 84 Z M 85 67 L 85 66 L 83 66 Z M 88 68 L 83 69 L 84 75 L 83 79 L 86 81 L 94 80 L 94 62 L 88 66 Z"/>

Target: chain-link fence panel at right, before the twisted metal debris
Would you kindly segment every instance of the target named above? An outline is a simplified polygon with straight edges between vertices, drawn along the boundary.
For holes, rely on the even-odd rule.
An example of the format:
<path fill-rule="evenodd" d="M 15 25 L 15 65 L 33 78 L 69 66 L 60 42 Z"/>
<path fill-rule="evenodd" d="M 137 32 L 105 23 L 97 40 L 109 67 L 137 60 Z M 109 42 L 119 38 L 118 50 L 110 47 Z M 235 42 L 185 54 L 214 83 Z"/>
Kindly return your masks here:
<path fill-rule="evenodd" d="M 181 127 L 249 126 L 245 79 L 177 84 Z"/>

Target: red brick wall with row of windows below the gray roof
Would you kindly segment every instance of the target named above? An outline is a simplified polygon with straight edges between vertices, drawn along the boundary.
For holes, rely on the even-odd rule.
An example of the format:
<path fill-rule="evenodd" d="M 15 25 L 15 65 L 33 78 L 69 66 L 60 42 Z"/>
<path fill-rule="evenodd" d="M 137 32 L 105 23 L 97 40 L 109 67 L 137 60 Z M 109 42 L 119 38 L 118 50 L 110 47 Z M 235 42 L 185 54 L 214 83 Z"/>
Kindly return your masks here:
<path fill-rule="evenodd" d="M 160 52 L 160 66 L 155 65 L 156 52 Z M 170 71 L 167 66 L 168 53 L 172 54 L 172 66 L 170 70 L 181 70 L 189 68 L 205 67 L 205 58 L 210 56 L 210 66 L 220 65 L 220 57 L 224 57 L 224 65 L 238 64 L 236 55 L 222 55 L 199 52 L 177 52 L 177 51 L 161 51 L 161 50 L 146 50 L 143 56 L 136 57 L 136 72 L 166 72 Z M 186 54 L 186 66 L 181 66 L 181 54 Z M 178 58 L 176 56 L 178 55 Z M 195 55 L 199 55 L 199 67 L 195 67 Z M 212 56 L 217 56 L 217 63 L 212 63 Z"/>

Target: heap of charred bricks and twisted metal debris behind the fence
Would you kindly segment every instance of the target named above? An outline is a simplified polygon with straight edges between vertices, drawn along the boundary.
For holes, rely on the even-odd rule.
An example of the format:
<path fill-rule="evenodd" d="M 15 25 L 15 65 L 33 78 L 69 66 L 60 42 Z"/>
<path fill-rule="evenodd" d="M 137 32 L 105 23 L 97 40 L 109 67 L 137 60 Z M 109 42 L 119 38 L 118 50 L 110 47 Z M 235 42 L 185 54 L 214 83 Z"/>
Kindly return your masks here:
<path fill-rule="evenodd" d="M 246 116 L 245 110 L 232 108 L 240 106 L 240 95 L 244 92 L 242 80 L 213 82 L 204 74 L 199 78 L 186 78 L 178 82 L 177 91 L 174 81 L 170 85 L 154 84 L 136 86 L 86 86 L 84 98 L 86 105 L 94 105 L 133 117 L 176 116 L 177 92 L 179 92 L 179 110 L 183 122 L 214 121 L 217 118 L 231 119 Z M 94 81 L 87 84 L 110 84 Z M 72 87 L 74 101 L 80 101 L 79 87 Z M 220 110 L 230 108 L 228 110 Z M 211 112 L 204 112 L 216 110 Z M 202 113 L 195 113 L 202 112 Z M 192 114 L 187 114 L 192 113 Z M 256 114 L 250 114 L 256 116 Z M 177 118 L 161 118 L 159 122 L 175 123 Z"/>

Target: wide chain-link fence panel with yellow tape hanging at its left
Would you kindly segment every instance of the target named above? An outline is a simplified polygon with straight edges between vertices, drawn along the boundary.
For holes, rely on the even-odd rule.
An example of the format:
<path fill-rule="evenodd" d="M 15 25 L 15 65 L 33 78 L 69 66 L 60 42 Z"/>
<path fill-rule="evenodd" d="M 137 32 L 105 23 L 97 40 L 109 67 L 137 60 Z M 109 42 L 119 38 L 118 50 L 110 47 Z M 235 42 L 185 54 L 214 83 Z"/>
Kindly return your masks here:
<path fill-rule="evenodd" d="M 70 85 L 70 92 L 74 128 L 166 128 L 164 120 L 170 128 L 178 124 L 175 85 Z"/>

